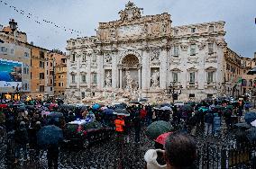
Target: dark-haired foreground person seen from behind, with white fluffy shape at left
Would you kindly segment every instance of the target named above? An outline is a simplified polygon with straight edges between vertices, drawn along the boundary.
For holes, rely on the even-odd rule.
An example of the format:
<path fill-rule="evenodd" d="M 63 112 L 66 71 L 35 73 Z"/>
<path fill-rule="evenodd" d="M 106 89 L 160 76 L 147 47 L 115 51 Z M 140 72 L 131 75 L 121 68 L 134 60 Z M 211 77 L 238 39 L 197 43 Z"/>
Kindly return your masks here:
<path fill-rule="evenodd" d="M 191 169 L 197 157 L 196 141 L 186 133 L 174 132 L 166 138 L 165 150 L 149 149 L 144 160 L 147 169 Z M 166 164 L 160 164 L 160 155 Z"/>

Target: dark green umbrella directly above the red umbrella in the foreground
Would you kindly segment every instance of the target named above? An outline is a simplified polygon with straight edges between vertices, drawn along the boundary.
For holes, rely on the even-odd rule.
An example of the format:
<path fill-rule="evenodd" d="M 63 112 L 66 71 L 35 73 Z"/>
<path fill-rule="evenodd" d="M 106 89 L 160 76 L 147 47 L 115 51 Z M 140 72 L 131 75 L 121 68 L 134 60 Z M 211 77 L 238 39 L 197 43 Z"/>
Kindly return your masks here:
<path fill-rule="evenodd" d="M 172 127 L 168 122 L 164 120 L 158 120 L 158 121 L 152 122 L 151 125 L 147 127 L 146 135 L 152 140 L 155 140 L 161 134 L 169 132 L 171 130 L 172 130 Z"/>

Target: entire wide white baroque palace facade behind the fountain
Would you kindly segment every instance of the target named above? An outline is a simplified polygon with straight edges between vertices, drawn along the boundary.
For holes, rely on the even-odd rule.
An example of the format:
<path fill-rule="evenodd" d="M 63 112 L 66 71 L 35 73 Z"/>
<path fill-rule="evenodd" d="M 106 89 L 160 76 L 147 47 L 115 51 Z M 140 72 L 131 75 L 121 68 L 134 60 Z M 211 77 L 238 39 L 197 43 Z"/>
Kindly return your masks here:
<path fill-rule="evenodd" d="M 171 26 L 169 13 L 142 16 L 129 2 L 120 19 L 100 22 L 96 36 L 68 40 L 68 84 L 73 101 L 98 98 L 200 100 L 223 92 L 224 22 Z"/>

